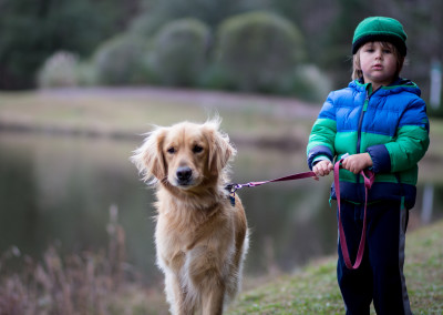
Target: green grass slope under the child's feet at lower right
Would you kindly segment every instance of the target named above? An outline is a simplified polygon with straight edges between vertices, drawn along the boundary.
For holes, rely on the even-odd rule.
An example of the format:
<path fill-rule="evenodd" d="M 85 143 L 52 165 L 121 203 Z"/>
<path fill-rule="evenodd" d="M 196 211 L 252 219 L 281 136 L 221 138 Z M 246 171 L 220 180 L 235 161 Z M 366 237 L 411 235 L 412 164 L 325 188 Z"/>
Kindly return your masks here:
<path fill-rule="evenodd" d="M 414 314 L 443 314 L 442 266 L 443 221 L 406 235 L 404 273 Z M 227 314 L 344 314 L 336 257 L 245 291 Z"/>

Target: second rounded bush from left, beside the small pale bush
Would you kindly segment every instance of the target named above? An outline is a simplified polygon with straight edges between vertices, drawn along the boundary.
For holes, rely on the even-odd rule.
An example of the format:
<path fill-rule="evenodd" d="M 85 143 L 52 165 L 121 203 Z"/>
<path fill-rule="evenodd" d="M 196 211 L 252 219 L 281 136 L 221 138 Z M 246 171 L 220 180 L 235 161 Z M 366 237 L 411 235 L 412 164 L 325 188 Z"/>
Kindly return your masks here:
<path fill-rule="evenodd" d="M 150 75 L 147 50 L 144 39 L 125 34 L 100 45 L 93 58 L 99 83 L 146 83 Z"/>

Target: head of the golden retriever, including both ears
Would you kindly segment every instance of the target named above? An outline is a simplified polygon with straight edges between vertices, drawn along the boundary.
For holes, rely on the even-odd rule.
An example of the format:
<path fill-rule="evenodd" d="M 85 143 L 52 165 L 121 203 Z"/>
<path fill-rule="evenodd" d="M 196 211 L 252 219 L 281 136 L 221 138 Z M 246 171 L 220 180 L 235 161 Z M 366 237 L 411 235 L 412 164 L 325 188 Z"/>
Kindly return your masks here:
<path fill-rule="evenodd" d="M 131 158 L 144 181 L 192 190 L 225 175 L 236 150 L 222 133 L 219 119 L 204 124 L 182 122 L 157 126 Z"/>

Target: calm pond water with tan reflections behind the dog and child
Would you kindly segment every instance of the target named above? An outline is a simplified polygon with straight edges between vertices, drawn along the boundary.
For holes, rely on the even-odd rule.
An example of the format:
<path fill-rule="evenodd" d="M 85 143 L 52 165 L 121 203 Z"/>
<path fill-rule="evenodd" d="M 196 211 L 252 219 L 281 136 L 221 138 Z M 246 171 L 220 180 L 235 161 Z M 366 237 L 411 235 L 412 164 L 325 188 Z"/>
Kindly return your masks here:
<path fill-rule="evenodd" d="M 127 261 L 147 280 L 157 277 L 153 192 L 128 161 L 141 141 L 0 132 L 0 252 L 14 245 L 40 257 L 52 244 L 66 254 L 105 248 L 109 209 L 116 205 L 126 233 Z M 237 149 L 233 182 L 307 171 L 302 152 Z M 247 274 L 289 272 L 336 252 L 336 213 L 328 204 L 331 180 L 274 183 L 239 192 L 253 232 Z M 434 205 L 425 212 L 423 191 L 419 186 L 410 227 L 443 217 L 443 186 L 426 187 Z"/>

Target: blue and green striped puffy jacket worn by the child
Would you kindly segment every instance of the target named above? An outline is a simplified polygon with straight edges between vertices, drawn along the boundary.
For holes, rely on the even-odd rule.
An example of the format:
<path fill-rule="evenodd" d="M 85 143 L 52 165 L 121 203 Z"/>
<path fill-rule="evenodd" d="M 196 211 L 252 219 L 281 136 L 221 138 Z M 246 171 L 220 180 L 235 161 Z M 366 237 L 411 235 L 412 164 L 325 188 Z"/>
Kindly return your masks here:
<path fill-rule="evenodd" d="M 419 87 L 404 79 L 372 92 L 370 83 L 352 81 L 333 91 L 315 122 L 307 148 L 308 165 L 319 159 L 368 152 L 375 182 L 369 201 L 401 200 L 415 203 L 418 162 L 429 146 L 426 105 Z M 343 200 L 364 202 L 361 175 L 340 170 Z M 331 196 L 334 195 L 332 185 Z"/>

